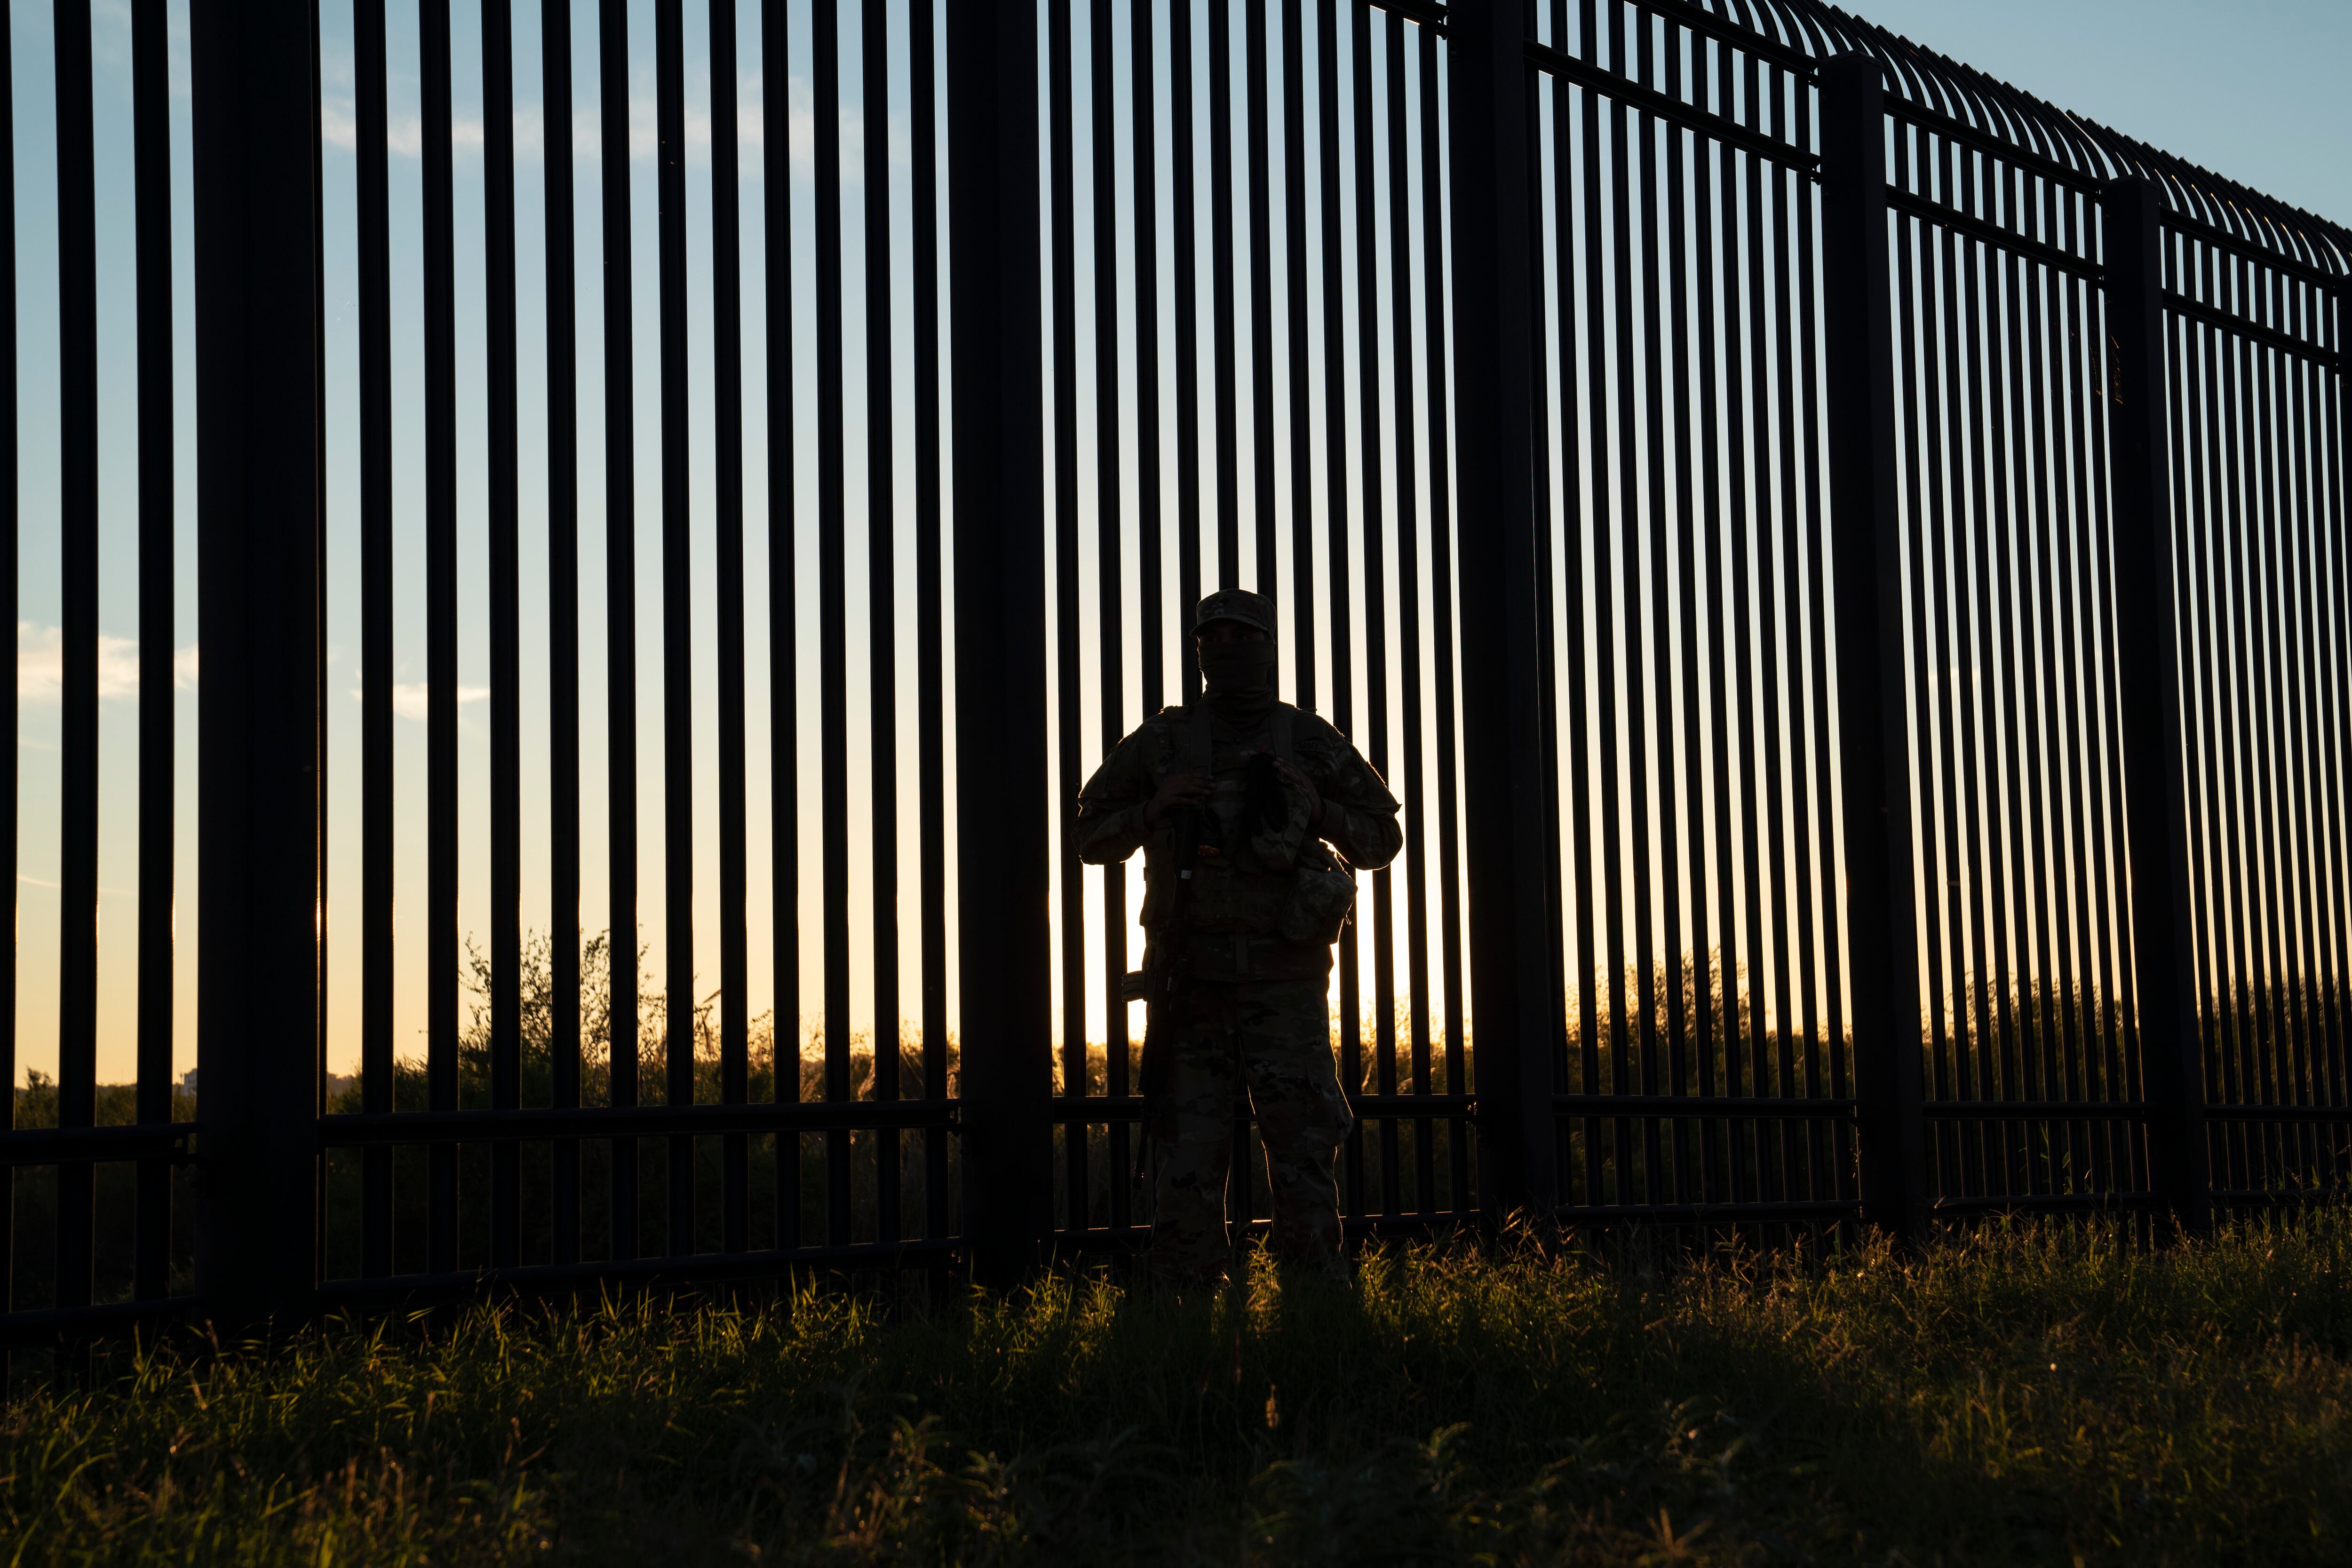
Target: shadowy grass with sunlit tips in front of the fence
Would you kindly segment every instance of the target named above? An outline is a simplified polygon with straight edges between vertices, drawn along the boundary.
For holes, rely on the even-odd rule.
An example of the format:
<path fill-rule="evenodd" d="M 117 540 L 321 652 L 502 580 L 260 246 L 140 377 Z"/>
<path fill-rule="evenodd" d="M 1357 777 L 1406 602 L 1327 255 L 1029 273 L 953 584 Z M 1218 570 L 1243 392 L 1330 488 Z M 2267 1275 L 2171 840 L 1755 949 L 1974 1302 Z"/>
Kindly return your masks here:
<path fill-rule="evenodd" d="M 9 1563 L 2319 1563 L 2352 1220 L 470 1309 L 5 1410 Z"/>

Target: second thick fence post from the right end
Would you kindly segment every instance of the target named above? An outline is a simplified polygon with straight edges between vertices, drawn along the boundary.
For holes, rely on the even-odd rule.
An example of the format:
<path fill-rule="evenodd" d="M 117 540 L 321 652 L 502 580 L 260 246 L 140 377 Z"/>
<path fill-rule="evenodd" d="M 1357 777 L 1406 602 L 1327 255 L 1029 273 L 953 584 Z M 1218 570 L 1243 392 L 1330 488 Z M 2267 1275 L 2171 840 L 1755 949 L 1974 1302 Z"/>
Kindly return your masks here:
<path fill-rule="evenodd" d="M 1839 54 L 1820 66 L 1820 294 L 1863 1215 L 1917 1241 L 1926 1232 L 1926 1128 L 1919 1117 L 1919 922 L 1903 691 L 1886 115 L 1879 63 L 1867 54 Z"/>

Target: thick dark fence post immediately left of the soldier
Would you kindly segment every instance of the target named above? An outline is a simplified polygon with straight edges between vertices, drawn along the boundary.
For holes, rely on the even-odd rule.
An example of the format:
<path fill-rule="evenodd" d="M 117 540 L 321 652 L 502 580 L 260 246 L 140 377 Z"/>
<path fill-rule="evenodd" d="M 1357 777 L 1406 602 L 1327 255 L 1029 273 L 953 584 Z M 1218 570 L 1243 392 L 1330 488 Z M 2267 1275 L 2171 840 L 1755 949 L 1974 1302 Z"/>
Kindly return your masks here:
<path fill-rule="evenodd" d="M 948 7 L 948 143 L 962 1237 L 1002 1286 L 1054 1222 L 1035 5 Z"/>

